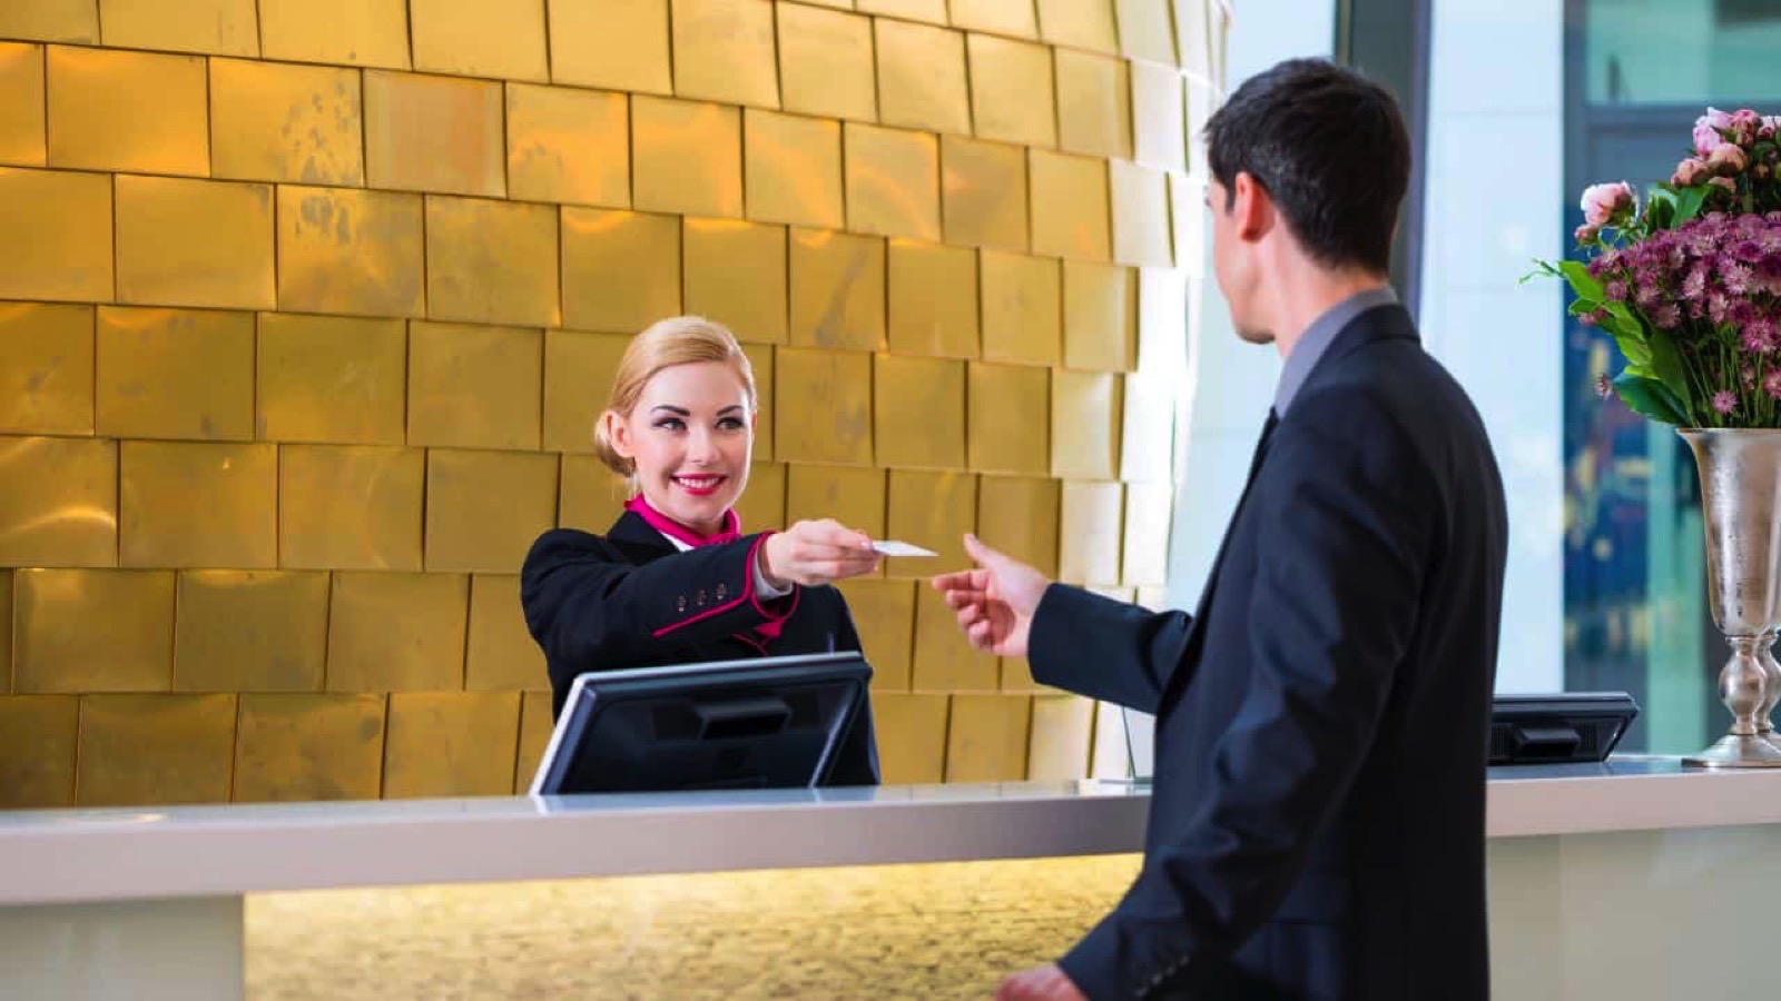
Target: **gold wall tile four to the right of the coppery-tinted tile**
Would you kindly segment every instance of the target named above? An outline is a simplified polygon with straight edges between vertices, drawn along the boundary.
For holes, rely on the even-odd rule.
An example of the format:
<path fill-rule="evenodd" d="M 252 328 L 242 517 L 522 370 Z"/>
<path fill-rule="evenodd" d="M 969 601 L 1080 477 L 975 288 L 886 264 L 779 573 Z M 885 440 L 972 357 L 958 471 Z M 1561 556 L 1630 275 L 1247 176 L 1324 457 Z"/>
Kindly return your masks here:
<path fill-rule="evenodd" d="M 940 146 L 926 132 L 848 123 L 848 228 L 940 239 Z"/>

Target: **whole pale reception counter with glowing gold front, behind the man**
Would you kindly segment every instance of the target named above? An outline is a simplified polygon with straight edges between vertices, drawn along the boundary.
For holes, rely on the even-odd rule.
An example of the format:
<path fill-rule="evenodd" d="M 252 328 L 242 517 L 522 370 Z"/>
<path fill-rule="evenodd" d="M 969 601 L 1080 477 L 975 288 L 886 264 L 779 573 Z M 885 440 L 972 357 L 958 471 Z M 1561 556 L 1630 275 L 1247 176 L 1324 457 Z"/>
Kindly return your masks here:
<path fill-rule="evenodd" d="M 1772 985 L 1781 775 L 1491 778 L 1496 994 Z M 9 997 L 987 996 L 1136 871 L 1120 784 L 0 814 Z M 1747 914 L 1745 914 L 1747 912 Z"/>

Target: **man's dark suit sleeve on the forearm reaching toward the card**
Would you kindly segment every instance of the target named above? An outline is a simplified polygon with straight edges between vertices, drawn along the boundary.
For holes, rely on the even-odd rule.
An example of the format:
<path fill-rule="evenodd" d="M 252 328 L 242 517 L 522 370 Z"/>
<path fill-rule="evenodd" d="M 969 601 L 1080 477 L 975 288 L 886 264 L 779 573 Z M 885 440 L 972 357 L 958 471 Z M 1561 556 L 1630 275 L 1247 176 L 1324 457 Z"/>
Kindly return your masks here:
<path fill-rule="evenodd" d="M 1181 611 L 1149 613 L 1053 584 L 1033 613 L 1028 664 L 1040 684 L 1156 712 L 1170 675 L 1181 670 L 1191 623 Z"/>

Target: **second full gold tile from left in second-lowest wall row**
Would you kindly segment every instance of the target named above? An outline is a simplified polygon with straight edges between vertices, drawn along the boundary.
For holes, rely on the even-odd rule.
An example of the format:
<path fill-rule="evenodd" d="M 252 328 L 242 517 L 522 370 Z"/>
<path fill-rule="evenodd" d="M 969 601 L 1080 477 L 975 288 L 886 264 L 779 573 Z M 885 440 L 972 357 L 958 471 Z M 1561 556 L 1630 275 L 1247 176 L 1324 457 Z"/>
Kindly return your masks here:
<path fill-rule="evenodd" d="M 185 570 L 175 607 L 173 691 L 321 691 L 328 574 Z"/>

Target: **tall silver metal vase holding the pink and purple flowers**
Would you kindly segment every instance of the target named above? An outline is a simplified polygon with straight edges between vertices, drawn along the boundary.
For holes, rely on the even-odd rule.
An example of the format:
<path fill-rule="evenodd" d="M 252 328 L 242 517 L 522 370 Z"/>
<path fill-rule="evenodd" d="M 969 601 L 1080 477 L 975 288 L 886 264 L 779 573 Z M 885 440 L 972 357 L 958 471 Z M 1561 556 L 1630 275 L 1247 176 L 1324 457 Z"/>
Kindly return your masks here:
<path fill-rule="evenodd" d="M 1708 602 L 1731 645 L 1719 671 L 1731 732 L 1683 764 L 1781 768 L 1781 746 L 1769 736 L 1781 698 L 1781 664 L 1770 654 L 1781 627 L 1781 429 L 1678 433 L 1701 474 Z"/>

